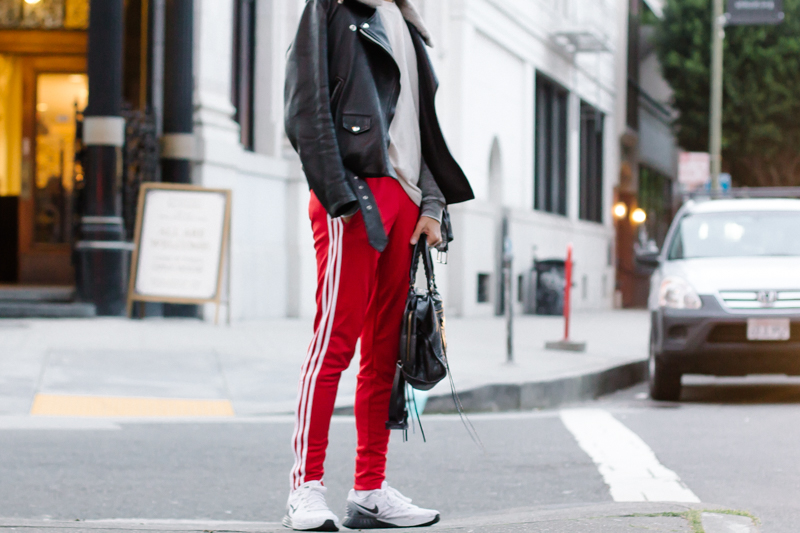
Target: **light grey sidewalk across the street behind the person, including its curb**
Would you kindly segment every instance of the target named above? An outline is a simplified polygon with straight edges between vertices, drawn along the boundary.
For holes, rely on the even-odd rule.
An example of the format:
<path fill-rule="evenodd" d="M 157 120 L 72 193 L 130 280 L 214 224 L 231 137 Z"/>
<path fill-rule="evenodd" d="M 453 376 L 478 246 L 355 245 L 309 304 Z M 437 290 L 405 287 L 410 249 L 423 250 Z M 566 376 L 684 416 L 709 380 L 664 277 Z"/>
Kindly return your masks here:
<path fill-rule="evenodd" d="M 39 414 L 59 414 L 52 411 L 54 402 L 80 397 L 118 400 L 112 410 L 122 405 L 129 415 L 288 414 L 311 328 L 308 320 L 231 327 L 176 319 L 0 320 L 0 416 L 27 415 L 34 407 Z M 586 341 L 587 351 L 550 351 L 544 343 L 560 338 L 562 320 L 521 316 L 515 360 L 508 364 L 502 319 L 447 322 L 462 400 L 468 409 L 484 411 L 548 407 L 631 385 L 644 376 L 648 334 L 644 311 L 580 312 L 573 338 Z M 342 378 L 340 412 L 353 404 L 356 368 L 354 362 Z M 440 383 L 426 412 L 452 410 L 449 394 L 449 385 Z"/>

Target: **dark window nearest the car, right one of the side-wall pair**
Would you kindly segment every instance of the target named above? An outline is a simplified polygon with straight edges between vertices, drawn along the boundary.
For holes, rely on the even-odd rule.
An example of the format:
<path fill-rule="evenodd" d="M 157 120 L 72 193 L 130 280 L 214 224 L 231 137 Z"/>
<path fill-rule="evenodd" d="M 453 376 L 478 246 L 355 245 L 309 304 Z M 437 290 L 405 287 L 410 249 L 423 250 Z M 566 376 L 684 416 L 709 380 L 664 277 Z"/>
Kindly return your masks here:
<path fill-rule="evenodd" d="M 580 212 L 583 220 L 603 221 L 603 113 L 581 102 Z"/>

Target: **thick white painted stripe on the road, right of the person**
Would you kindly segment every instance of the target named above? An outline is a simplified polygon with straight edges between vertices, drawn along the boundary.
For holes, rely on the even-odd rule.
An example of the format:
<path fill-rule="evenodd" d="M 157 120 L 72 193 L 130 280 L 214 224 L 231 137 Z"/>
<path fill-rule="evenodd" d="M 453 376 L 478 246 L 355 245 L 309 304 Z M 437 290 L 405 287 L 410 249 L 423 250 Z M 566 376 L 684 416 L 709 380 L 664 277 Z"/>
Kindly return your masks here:
<path fill-rule="evenodd" d="M 617 502 L 699 502 L 636 433 L 602 409 L 565 409 L 561 420 L 597 465 Z"/>

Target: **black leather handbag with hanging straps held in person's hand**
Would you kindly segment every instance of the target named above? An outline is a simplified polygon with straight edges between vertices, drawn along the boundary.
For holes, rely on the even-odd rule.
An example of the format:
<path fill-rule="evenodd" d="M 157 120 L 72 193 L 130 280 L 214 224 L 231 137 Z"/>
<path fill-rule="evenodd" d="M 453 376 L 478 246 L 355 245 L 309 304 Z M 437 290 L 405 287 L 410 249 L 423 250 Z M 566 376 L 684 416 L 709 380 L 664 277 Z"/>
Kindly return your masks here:
<path fill-rule="evenodd" d="M 414 287 L 420 260 L 425 268 L 426 289 Z M 407 429 L 405 384 L 418 390 L 430 390 L 447 377 L 447 341 L 444 333 L 444 305 L 436 288 L 433 260 L 425 235 L 414 247 L 410 281 L 400 347 L 395 371 L 387 429 Z"/>

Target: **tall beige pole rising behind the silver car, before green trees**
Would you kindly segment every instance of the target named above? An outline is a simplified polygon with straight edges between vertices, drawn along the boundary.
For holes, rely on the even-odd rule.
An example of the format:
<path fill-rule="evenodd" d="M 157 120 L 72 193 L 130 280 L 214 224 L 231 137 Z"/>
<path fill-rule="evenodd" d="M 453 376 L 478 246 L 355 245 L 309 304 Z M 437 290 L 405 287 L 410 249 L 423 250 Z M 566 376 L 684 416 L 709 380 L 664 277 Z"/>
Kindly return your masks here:
<path fill-rule="evenodd" d="M 711 156 L 711 191 L 720 192 L 719 174 L 722 171 L 722 47 L 725 39 L 723 0 L 714 0 L 711 21 L 711 124 L 709 154 Z"/>

